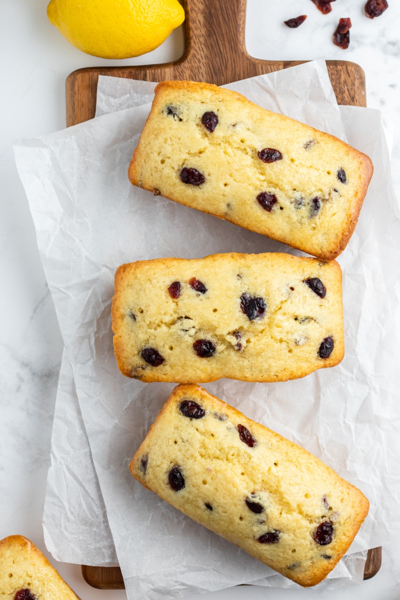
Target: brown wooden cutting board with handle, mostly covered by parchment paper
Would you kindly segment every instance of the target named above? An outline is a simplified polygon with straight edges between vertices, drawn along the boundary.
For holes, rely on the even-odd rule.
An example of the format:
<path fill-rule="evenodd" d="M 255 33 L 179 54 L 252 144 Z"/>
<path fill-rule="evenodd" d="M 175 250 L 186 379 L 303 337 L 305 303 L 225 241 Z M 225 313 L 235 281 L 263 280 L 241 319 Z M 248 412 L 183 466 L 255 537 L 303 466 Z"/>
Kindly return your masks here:
<path fill-rule="evenodd" d="M 139 67 L 88 67 L 70 74 L 65 84 L 67 127 L 95 115 L 99 75 L 145 81 L 190 79 L 224 85 L 246 77 L 293 67 L 302 61 L 264 61 L 252 58 L 245 48 L 246 0 L 184 0 L 185 52 L 175 62 Z M 310 4 L 310 12 L 315 10 Z M 267 23 L 268 27 L 280 26 Z M 267 34 L 266 34 L 267 40 Z M 327 51 L 332 42 L 327 39 Z M 330 81 L 339 104 L 366 106 L 365 77 L 353 62 L 327 61 Z M 381 548 L 368 551 L 364 579 L 381 566 Z M 82 566 L 85 580 L 99 589 L 123 589 L 119 567 Z"/>

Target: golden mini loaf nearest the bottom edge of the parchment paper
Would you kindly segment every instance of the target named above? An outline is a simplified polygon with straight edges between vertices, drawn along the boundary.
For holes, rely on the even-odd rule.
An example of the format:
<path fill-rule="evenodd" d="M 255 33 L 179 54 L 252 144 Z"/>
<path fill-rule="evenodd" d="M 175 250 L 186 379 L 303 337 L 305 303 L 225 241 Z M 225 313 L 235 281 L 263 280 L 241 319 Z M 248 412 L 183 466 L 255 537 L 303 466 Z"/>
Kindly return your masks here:
<path fill-rule="evenodd" d="M 302 586 L 326 577 L 369 503 L 318 458 L 179 385 L 130 463 L 149 490 Z"/>

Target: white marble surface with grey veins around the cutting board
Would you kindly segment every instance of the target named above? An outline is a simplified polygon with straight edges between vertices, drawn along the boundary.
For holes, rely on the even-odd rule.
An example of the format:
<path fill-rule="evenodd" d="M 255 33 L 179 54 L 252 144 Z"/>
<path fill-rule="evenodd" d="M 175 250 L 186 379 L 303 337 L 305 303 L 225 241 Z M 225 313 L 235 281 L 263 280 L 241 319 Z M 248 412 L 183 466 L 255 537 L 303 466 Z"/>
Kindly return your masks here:
<path fill-rule="evenodd" d="M 383 111 L 394 138 L 393 183 L 400 197 L 400 4 L 389 0 L 389 9 L 375 20 L 363 16 L 363 2 L 359 0 L 338 0 L 327 16 L 318 13 L 310 0 L 285 0 L 277 7 L 274 4 L 248 0 L 248 52 L 265 59 L 345 59 L 360 64 L 366 75 L 367 104 Z M 95 65 L 166 62 L 182 53 L 182 33 L 176 31 L 162 47 L 138 59 L 102 61 L 87 56 L 69 46 L 50 25 L 46 5 L 47 0 L 13 0 L 0 6 L 4 56 L 0 96 L 0 265 L 4 282 L 0 295 L 0 539 L 22 533 L 45 553 L 41 516 L 62 341 L 11 142 L 17 137 L 35 137 L 65 126 L 64 82 L 71 71 Z M 308 14 L 299 29 L 286 30 L 281 26 L 282 19 L 298 14 Z M 333 46 L 330 35 L 338 18 L 348 16 L 353 29 L 350 47 L 344 51 Z M 377 199 L 377 209 L 378 206 Z M 393 368 L 398 368 L 395 362 Z M 393 539 L 383 548 L 383 565 L 378 575 L 361 586 L 327 592 L 326 597 L 397 600 L 398 536 L 399 523 L 393 523 Z M 82 600 L 125 598 L 122 591 L 105 592 L 87 586 L 78 566 L 56 566 Z M 312 593 L 237 587 L 206 598 L 258 599 L 273 594 L 274 598 L 293 599 L 308 598 Z"/>

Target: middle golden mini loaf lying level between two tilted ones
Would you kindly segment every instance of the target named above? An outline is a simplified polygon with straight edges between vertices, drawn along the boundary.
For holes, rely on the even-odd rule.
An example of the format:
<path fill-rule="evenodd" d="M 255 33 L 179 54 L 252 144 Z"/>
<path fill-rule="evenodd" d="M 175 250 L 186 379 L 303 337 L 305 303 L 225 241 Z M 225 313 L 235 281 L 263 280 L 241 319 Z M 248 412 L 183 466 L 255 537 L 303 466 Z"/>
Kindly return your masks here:
<path fill-rule="evenodd" d="M 289 254 L 122 265 L 112 304 L 119 369 L 143 382 L 284 381 L 344 355 L 341 269 Z"/>

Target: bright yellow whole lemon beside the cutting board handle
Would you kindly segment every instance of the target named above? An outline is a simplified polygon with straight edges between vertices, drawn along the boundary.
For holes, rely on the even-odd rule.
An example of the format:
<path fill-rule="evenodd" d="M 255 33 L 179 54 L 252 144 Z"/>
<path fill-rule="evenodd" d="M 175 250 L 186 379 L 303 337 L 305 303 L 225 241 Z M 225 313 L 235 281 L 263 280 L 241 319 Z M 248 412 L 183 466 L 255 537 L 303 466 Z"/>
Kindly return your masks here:
<path fill-rule="evenodd" d="M 178 0 L 51 0 L 47 16 L 79 50 L 130 58 L 160 46 L 185 12 Z"/>

